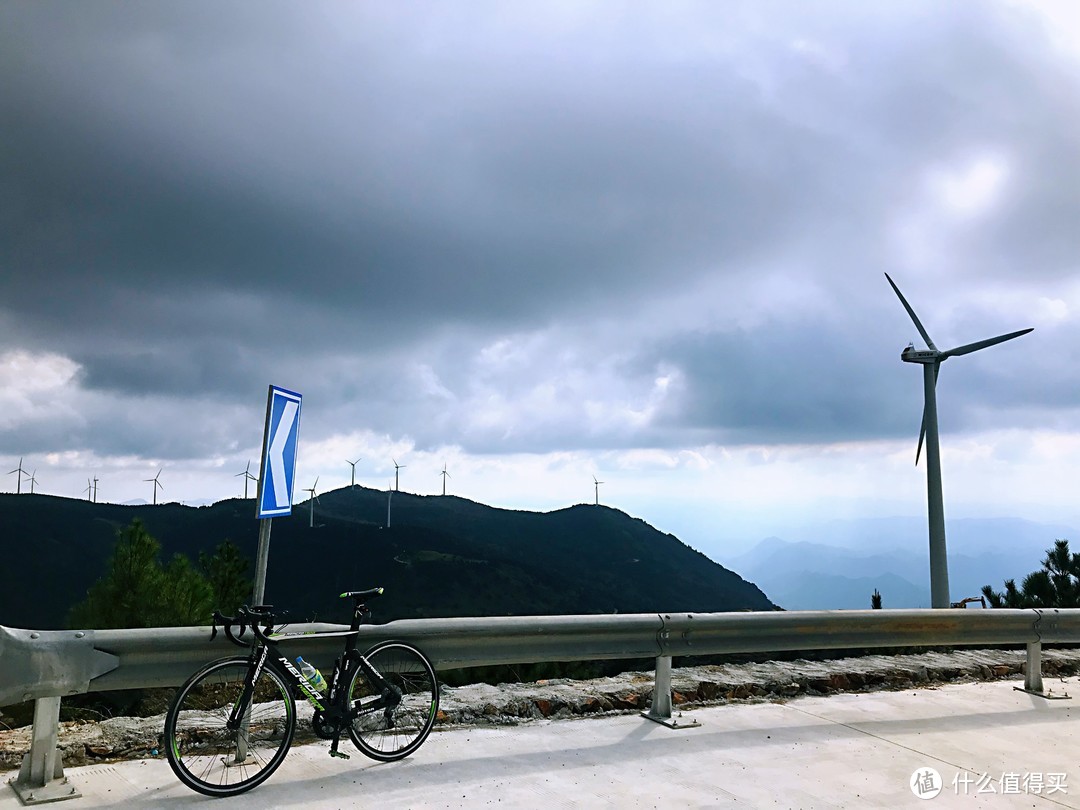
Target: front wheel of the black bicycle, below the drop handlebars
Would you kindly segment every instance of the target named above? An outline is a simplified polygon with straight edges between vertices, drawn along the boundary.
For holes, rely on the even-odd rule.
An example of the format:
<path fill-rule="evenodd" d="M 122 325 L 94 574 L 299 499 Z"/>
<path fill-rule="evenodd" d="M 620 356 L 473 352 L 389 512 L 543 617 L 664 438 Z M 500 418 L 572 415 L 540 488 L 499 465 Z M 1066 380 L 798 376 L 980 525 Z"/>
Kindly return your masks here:
<path fill-rule="evenodd" d="M 281 765 L 296 731 L 296 706 L 285 680 L 264 666 L 239 727 L 229 716 L 241 700 L 251 662 L 214 661 L 180 687 L 165 715 L 165 756 L 179 780 L 207 796 L 249 791 Z"/>

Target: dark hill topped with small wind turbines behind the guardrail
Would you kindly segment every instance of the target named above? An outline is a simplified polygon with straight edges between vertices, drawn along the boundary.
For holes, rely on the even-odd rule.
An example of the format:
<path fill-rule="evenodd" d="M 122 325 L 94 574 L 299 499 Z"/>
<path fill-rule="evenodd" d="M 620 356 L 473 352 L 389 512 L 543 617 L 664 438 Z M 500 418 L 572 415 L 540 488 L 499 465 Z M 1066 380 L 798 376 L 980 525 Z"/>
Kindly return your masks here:
<path fill-rule="evenodd" d="M 375 619 L 771 610 L 753 583 L 673 535 L 603 505 L 519 512 L 453 496 L 346 487 L 278 518 L 267 600 L 343 621 L 342 591 L 381 585 Z M 0 624 L 59 629 L 106 570 L 117 529 L 140 518 L 163 556 L 228 538 L 254 559 L 254 500 L 120 505 L 0 495 Z"/>

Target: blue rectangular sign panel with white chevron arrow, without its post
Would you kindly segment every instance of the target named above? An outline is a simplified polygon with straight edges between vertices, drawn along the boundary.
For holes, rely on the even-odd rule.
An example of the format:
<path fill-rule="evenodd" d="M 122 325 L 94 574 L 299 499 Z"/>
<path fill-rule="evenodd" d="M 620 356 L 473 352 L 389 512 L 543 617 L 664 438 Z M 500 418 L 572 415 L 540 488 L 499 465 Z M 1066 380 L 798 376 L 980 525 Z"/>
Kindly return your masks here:
<path fill-rule="evenodd" d="M 281 517 L 293 513 L 293 481 L 296 477 L 302 400 L 294 391 L 270 386 L 256 517 Z"/>

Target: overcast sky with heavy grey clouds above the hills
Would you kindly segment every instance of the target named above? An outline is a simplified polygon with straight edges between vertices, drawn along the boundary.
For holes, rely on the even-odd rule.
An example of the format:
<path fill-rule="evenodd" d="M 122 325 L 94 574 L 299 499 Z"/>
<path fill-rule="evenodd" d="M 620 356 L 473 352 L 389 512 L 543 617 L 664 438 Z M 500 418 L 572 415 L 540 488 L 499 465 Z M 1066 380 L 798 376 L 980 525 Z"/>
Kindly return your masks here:
<path fill-rule="evenodd" d="M 924 514 L 888 272 L 939 348 L 1035 327 L 942 367 L 946 514 L 1080 525 L 1067 2 L 9 0 L 0 75 L 37 491 L 240 496 L 273 383 L 298 489 Z"/>

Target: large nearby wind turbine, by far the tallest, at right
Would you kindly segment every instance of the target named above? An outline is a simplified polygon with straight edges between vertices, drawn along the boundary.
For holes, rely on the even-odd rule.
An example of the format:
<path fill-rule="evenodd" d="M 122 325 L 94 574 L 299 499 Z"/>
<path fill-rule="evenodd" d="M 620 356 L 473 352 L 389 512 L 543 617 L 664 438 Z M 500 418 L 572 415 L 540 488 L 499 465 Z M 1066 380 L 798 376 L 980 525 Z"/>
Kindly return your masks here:
<path fill-rule="evenodd" d="M 1003 343 L 1005 340 L 1012 340 L 1021 335 L 1026 335 L 1031 329 L 1010 332 L 1008 335 L 998 335 L 997 337 L 978 340 L 974 343 L 966 343 L 956 349 L 941 351 L 934 346 L 933 340 L 930 339 L 930 335 L 927 334 L 927 330 L 919 322 L 918 315 L 915 314 L 915 310 L 912 309 L 912 305 L 904 298 L 900 292 L 900 287 L 889 278 L 889 273 L 886 273 L 885 278 L 889 280 L 890 286 L 896 293 L 900 302 L 904 305 L 907 314 L 912 316 L 912 320 L 915 322 L 915 328 L 919 330 L 919 335 L 922 336 L 928 347 L 926 351 L 919 351 L 909 345 L 901 352 L 900 359 L 905 363 L 922 364 L 922 427 L 919 429 L 919 444 L 915 450 L 915 463 L 919 463 L 922 442 L 926 440 L 927 513 L 930 523 L 930 606 L 947 608 L 951 603 L 949 602 L 948 593 L 948 555 L 945 552 L 945 504 L 942 497 L 941 447 L 937 438 L 937 394 L 935 390 L 937 387 L 937 374 L 941 370 L 941 364 L 949 357 L 970 354 L 989 346 Z"/>

